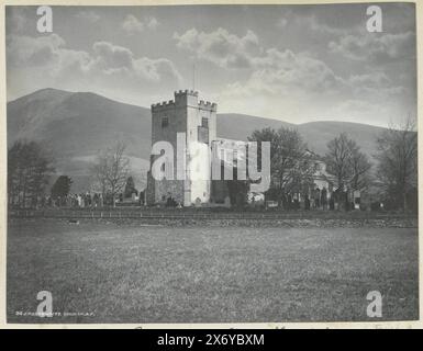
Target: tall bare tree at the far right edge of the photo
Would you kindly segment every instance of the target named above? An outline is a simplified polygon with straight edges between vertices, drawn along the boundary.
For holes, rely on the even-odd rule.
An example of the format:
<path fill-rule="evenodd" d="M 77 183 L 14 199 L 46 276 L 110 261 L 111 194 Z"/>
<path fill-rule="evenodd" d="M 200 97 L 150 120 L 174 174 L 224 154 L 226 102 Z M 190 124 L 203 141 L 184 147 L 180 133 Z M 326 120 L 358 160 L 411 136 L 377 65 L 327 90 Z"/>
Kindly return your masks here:
<path fill-rule="evenodd" d="M 379 160 L 377 177 L 389 197 L 408 210 L 408 195 L 418 190 L 418 133 L 410 116 L 391 126 L 377 139 Z"/>

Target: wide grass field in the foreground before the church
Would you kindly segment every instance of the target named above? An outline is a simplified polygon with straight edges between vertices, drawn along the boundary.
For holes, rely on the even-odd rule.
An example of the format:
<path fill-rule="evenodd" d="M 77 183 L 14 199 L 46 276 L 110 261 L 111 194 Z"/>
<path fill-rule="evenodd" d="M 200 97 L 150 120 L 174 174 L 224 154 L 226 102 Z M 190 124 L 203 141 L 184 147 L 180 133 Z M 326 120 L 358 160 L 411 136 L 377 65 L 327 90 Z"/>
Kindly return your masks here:
<path fill-rule="evenodd" d="M 230 322 L 419 317 L 416 228 L 165 227 L 12 220 L 9 322 Z M 53 294 L 40 318 L 36 294 Z"/>

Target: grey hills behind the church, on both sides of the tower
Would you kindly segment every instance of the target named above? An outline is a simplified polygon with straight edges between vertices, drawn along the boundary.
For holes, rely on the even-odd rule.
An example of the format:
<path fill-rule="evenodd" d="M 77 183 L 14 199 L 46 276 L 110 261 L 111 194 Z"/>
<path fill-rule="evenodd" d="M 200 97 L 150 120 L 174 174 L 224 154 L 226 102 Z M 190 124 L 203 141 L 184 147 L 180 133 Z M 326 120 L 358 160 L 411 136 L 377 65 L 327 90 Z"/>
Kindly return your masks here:
<path fill-rule="evenodd" d="M 253 131 L 280 126 L 297 127 L 318 154 L 326 143 L 347 132 L 369 156 L 376 151 L 375 138 L 382 128 L 342 122 L 313 122 L 300 125 L 243 114 L 219 114 L 218 136 L 246 139 Z M 16 139 L 38 140 L 56 159 L 56 172 L 73 177 L 73 191 L 85 191 L 89 167 L 98 150 L 124 139 L 132 171 L 138 180 L 148 168 L 151 151 L 149 109 L 120 103 L 91 92 L 38 90 L 8 103 L 8 145 Z"/>

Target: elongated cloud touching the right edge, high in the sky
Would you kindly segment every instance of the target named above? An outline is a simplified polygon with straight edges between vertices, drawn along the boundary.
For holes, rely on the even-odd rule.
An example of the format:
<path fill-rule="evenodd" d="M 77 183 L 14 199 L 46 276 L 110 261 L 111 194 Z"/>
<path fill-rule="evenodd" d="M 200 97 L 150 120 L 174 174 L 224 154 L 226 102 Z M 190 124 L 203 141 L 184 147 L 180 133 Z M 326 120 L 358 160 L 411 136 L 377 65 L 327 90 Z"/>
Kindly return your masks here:
<path fill-rule="evenodd" d="M 400 61 L 415 58 L 415 34 L 412 32 L 398 34 L 361 33 L 346 35 L 329 43 L 332 53 L 345 58 L 374 64 Z"/>

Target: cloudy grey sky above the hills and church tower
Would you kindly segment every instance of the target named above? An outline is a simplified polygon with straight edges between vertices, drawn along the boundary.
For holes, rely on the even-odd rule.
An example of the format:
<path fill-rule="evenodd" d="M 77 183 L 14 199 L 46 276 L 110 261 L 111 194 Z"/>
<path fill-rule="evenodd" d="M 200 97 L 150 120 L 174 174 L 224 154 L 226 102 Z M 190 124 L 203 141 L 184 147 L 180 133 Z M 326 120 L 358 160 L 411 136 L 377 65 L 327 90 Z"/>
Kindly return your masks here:
<path fill-rule="evenodd" d="M 415 115 L 413 4 L 53 7 L 7 9 L 8 100 L 42 88 L 149 107 L 192 89 L 218 112 L 291 123 L 387 126 Z"/>

